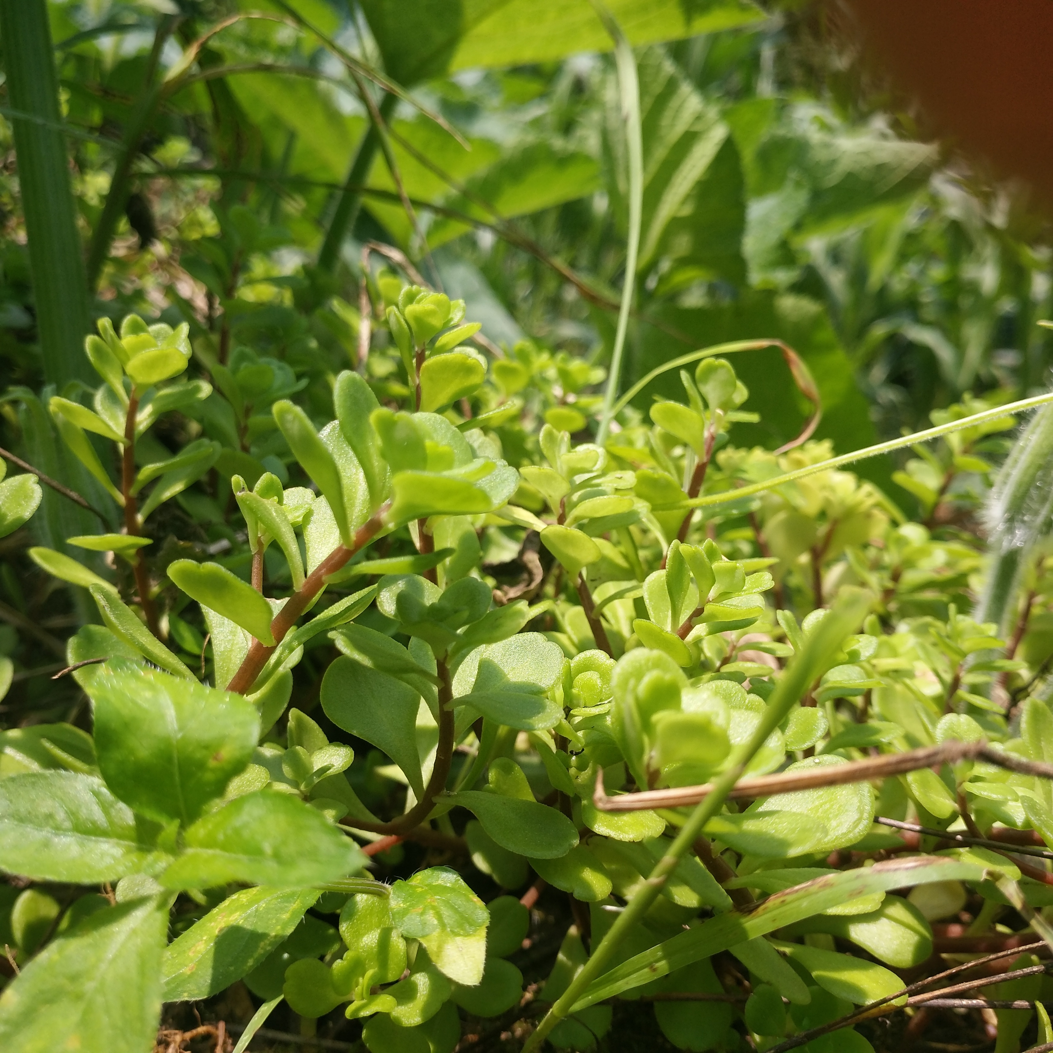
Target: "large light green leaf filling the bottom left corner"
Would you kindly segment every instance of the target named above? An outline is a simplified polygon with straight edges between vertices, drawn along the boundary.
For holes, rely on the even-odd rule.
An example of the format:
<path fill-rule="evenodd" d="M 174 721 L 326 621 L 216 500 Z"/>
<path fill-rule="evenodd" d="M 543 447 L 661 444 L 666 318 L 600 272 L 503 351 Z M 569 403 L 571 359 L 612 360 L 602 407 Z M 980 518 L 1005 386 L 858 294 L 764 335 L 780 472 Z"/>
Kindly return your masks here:
<path fill-rule="evenodd" d="M 0 996 L 4 1053 L 143 1053 L 161 1015 L 161 897 L 85 918 L 38 954 Z"/>

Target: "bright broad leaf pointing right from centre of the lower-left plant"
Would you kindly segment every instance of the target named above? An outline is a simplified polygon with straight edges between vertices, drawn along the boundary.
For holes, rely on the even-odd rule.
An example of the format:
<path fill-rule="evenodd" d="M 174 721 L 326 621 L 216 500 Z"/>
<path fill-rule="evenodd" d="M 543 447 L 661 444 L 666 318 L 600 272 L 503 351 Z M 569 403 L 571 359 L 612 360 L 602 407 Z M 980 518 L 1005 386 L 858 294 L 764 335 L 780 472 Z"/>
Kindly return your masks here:
<path fill-rule="evenodd" d="M 198 819 L 186 829 L 183 845 L 159 877 L 165 888 L 319 885 L 346 877 L 366 861 L 317 809 L 271 790 L 236 797 Z"/>

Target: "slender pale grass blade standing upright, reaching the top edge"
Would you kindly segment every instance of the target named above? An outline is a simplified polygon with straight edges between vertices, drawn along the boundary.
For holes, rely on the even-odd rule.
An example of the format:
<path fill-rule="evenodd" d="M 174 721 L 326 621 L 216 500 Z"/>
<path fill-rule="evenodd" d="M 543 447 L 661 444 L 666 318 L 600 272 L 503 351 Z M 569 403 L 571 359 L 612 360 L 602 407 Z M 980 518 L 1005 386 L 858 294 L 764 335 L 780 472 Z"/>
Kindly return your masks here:
<path fill-rule="evenodd" d="M 633 48 L 614 17 L 600 2 L 590 0 L 599 15 L 603 28 L 614 41 L 614 59 L 618 68 L 618 88 L 621 95 L 621 116 L 625 121 L 625 146 L 629 155 L 629 244 L 625 252 L 625 277 L 621 285 L 621 305 L 618 309 L 618 327 L 611 353 L 611 372 L 603 392 L 603 412 L 599 419 L 596 441 L 600 445 L 607 438 L 614 418 L 614 400 L 618 395 L 621 357 L 625 350 L 629 316 L 633 310 L 636 290 L 636 264 L 640 252 L 640 226 L 643 216 L 643 132 L 640 121 L 640 83 L 636 73 Z"/>

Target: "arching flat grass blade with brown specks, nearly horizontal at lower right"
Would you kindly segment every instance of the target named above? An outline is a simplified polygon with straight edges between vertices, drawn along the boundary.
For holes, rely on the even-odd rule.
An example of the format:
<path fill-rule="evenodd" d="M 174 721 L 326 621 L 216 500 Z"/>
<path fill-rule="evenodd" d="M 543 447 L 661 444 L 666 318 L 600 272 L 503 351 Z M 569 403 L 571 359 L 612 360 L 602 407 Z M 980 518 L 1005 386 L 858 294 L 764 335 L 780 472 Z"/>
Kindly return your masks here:
<path fill-rule="evenodd" d="M 982 881 L 987 874 L 976 863 L 920 856 L 830 874 L 769 896 L 748 914 L 739 911 L 720 914 L 633 956 L 591 984 L 572 1012 L 873 892 L 933 881 Z"/>

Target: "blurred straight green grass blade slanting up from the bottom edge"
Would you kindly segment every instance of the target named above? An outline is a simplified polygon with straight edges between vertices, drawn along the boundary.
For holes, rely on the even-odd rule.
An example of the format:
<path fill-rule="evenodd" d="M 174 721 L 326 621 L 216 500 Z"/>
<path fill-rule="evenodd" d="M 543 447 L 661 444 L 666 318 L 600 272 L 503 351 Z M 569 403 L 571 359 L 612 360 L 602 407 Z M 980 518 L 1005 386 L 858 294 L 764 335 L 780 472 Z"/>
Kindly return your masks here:
<path fill-rule="evenodd" d="M 585 989 L 604 972 L 625 939 L 643 920 L 643 915 L 661 893 L 680 857 L 695 842 L 706 823 L 723 806 L 724 798 L 746 771 L 746 766 L 753 755 L 779 726 L 791 707 L 804 695 L 845 637 L 854 632 L 862 621 L 871 598 L 870 594 L 859 590 L 842 591 L 841 599 L 819 622 L 803 649 L 787 667 L 750 740 L 737 751 L 728 770 L 714 781 L 710 795 L 696 806 L 647 881 L 640 886 L 639 891 L 618 915 L 581 971 L 530 1036 L 523 1047 L 523 1053 L 535 1053 L 539 1050 L 552 1029 L 572 1012 Z"/>

